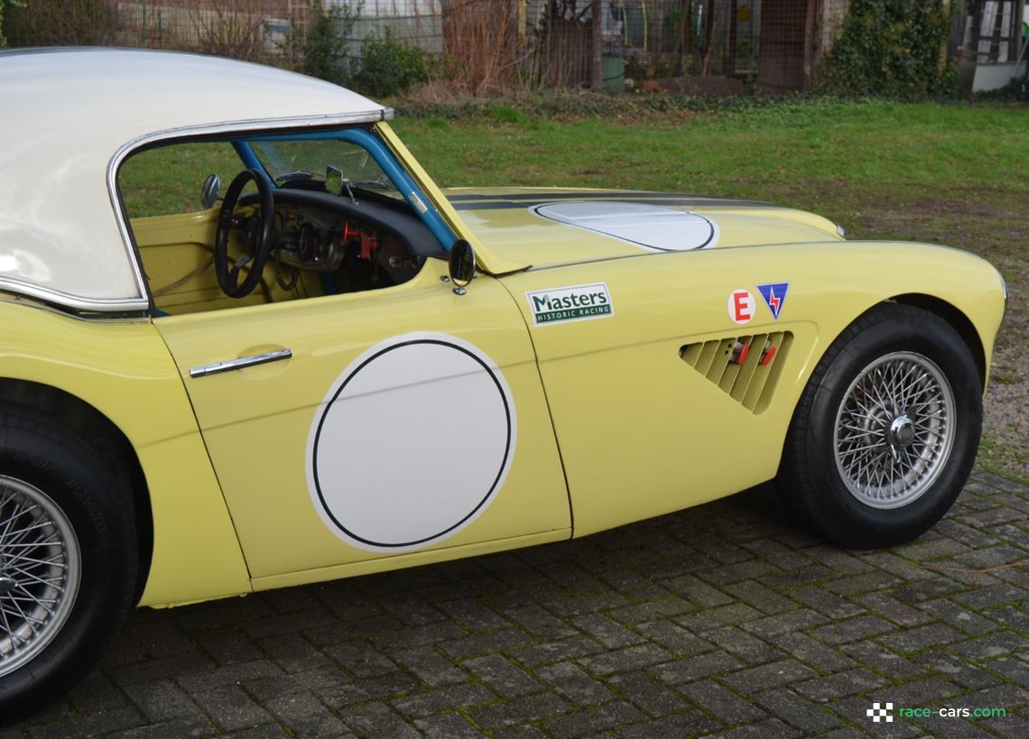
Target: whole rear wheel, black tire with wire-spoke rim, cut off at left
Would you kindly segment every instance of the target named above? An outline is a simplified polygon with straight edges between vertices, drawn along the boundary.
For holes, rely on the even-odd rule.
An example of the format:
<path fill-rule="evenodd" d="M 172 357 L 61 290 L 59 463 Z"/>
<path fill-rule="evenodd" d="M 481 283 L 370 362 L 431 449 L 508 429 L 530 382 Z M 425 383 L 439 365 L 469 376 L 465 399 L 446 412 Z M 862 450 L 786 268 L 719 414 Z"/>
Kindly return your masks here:
<path fill-rule="evenodd" d="M 57 424 L 0 411 L 0 726 L 67 692 L 125 620 L 138 553 L 123 480 Z"/>

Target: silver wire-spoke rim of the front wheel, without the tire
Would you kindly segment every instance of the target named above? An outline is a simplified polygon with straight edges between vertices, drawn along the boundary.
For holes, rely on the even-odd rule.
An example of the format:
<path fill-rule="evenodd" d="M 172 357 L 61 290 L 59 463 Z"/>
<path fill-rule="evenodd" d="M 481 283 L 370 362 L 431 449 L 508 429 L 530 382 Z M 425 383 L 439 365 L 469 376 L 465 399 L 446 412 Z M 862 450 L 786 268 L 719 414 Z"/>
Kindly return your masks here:
<path fill-rule="evenodd" d="M 865 505 L 907 505 L 946 466 L 956 428 L 954 392 L 939 367 L 914 352 L 886 354 L 844 393 L 833 434 L 837 469 Z"/>

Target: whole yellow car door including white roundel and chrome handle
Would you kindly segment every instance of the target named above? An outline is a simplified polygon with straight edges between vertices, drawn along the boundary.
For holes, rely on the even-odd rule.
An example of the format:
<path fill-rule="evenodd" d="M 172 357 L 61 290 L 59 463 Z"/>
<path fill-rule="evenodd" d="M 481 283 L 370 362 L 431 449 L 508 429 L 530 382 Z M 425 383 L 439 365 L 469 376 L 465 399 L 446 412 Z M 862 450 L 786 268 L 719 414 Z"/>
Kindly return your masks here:
<path fill-rule="evenodd" d="M 494 279 L 458 295 L 446 273 L 154 320 L 256 587 L 570 534 L 525 321 Z"/>

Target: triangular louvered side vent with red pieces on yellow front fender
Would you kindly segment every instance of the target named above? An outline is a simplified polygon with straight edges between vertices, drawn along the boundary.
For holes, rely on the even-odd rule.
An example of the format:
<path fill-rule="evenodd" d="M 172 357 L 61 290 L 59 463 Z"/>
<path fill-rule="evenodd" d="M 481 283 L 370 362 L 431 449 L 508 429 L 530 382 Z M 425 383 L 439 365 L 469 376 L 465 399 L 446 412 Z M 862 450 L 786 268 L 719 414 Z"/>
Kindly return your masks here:
<path fill-rule="evenodd" d="M 755 333 L 686 344 L 679 356 L 745 409 L 761 413 L 772 399 L 792 341 L 789 331 Z"/>

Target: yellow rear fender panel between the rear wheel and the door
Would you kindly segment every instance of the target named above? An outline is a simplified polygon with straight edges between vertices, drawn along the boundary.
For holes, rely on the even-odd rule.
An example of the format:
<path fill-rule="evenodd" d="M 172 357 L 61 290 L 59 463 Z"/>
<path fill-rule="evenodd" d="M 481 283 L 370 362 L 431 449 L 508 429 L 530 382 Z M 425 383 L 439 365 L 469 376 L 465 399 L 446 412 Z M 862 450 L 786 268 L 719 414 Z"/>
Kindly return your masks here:
<path fill-rule="evenodd" d="M 153 512 L 153 558 L 142 604 L 250 590 L 189 398 L 152 323 L 81 320 L 5 298 L 0 366 L 6 378 L 79 397 L 132 442 Z"/>

